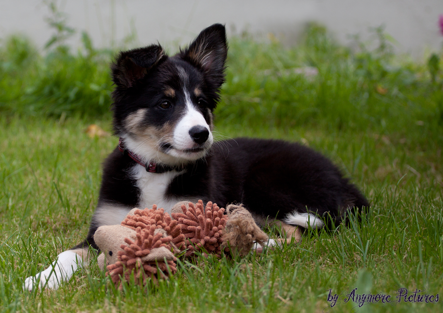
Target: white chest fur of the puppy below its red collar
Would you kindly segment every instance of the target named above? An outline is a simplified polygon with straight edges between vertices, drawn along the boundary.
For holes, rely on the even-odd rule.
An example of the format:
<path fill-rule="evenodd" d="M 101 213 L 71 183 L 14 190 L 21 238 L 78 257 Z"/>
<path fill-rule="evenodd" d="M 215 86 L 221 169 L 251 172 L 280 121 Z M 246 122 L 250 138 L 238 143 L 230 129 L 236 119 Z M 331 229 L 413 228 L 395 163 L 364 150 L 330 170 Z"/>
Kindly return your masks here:
<path fill-rule="evenodd" d="M 170 195 L 165 197 L 165 195 L 172 180 L 180 173 L 175 170 L 162 174 L 150 173 L 143 166 L 137 164 L 133 168 L 132 174 L 136 180 L 137 187 L 140 189 L 139 209 L 150 209 L 155 204 L 158 208 L 163 208 L 165 212 L 171 213 L 172 206 L 179 199 Z"/>

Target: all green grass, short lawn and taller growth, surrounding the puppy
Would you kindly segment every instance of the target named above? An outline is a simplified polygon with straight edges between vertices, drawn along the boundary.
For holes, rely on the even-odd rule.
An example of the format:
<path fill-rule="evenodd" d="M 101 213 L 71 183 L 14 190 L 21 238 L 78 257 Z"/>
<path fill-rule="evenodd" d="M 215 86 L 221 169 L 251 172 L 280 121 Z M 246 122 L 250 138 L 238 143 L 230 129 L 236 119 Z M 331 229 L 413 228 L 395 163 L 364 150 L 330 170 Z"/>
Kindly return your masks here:
<path fill-rule="evenodd" d="M 86 235 L 101 162 L 118 141 L 85 133 L 89 124 L 112 132 L 105 113 L 112 88 L 104 66 L 109 58 L 92 50 L 74 55 L 59 49 L 15 61 L 17 45 L 26 41 L 2 46 L 1 310 L 441 310 L 442 301 L 394 302 L 399 288 L 409 295 L 426 288 L 425 293 L 443 297 L 441 71 L 432 75 L 425 62 L 392 54 L 378 35 L 375 50 L 361 44 L 357 52 L 315 25 L 291 49 L 274 38 L 265 43 L 247 35 L 232 38 L 227 82 L 215 111 L 218 139 L 299 141 L 330 157 L 371 202 L 362 222 L 330 232 L 308 230 L 302 243 L 261 256 L 179 262 L 169 281 L 123 291 L 109 284 L 96 263 L 58 290 L 22 291 L 24 278 Z M 86 66 L 90 77 L 76 71 Z M 318 73 L 303 72 L 312 68 Z M 328 307 L 330 289 L 332 296 L 344 296 L 355 288 L 357 294 L 390 295 L 391 302 L 354 308 L 357 303 L 342 299 Z"/>

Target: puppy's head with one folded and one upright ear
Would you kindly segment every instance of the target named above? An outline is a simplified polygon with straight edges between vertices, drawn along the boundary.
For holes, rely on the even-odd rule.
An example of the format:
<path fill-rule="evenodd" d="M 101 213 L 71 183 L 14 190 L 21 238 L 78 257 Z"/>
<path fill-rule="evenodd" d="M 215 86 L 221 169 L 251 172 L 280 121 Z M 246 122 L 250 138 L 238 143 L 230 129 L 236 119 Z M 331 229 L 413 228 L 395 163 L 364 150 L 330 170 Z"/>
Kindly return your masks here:
<path fill-rule="evenodd" d="M 225 81 L 225 27 L 205 28 L 167 56 L 159 45 L 121 52 L 111 66 L 114 129 L 144 161 L 183 164 L 206 155 L 212 112 Z"/>

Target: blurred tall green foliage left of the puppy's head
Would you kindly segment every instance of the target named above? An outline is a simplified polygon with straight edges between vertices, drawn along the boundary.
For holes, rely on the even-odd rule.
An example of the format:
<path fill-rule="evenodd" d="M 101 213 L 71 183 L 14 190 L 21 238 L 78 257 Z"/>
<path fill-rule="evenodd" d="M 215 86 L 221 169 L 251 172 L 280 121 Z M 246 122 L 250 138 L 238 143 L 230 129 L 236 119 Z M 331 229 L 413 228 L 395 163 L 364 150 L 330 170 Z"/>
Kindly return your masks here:
<path fill-rule="evenodd" d="M 12 36 L 0 48 L 0 111 L 36 116 L 101 116 L 109 112 L 112 82 L 108 51 L 83 34 L 84 51 L 57 46 L 40 55 L 26 38 Z"/>

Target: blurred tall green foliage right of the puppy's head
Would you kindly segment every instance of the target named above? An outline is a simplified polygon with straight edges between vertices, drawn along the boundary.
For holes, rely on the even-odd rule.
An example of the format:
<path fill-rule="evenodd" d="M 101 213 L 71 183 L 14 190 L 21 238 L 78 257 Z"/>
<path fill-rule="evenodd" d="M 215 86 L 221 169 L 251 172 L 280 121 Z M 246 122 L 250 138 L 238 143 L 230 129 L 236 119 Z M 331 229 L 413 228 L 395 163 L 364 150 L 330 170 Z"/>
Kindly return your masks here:
<path fill-rule="evenodd" d="M 283 49 L 276 40 L 249 36 L 230 40 L 227 82 L 219 117 L 232 123 L 326 123 L 332 128 L 401 129 L 417 121 L 442 124 L 442 89 L 435 88 L 425 64 L 392 52 L 389 36 L 351 50 L 324 27 L 311 24 L 299 45 Z M 377 44 L 374 49 L 368 46 Z M 317 75 L 307 75 L 317 69 Z M 433 77 L 441 72 L 434 71 Z M 420 122 L 419 122 L 420 123 Z"/>

